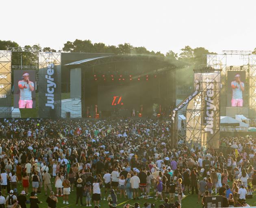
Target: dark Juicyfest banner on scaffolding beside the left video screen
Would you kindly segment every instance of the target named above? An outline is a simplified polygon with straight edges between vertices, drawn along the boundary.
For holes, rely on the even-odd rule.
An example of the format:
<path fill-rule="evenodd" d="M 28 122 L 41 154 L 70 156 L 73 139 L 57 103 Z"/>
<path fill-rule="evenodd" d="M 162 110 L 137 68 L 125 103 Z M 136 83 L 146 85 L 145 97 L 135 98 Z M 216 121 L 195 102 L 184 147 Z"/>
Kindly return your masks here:
<path fill-rule="evenodd" d="M 61 118 L 61 52 L 39 52 L 39 117 Z"/>

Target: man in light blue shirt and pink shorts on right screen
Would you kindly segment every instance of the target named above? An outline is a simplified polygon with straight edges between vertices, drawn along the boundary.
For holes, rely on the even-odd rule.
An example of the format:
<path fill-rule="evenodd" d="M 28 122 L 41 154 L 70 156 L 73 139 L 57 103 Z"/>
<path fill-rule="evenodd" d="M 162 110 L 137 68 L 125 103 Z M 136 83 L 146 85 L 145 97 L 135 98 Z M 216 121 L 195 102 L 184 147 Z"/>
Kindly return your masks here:
<path fill-rule="evenodd" d="M 241 76 L 236 74 L 234 81 L 231 82 L 232 88 L 232 107 L 243 107 L 243 91 L 245 90 L 245 84 L 241 82 Z"/>

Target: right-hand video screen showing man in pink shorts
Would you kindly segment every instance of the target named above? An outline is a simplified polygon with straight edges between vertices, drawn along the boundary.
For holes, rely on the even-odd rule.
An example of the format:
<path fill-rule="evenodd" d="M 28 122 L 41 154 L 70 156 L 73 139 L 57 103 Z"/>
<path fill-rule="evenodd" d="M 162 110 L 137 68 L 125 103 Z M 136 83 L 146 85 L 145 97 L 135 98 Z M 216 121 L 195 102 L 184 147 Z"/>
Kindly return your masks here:
<path fill-rule="evenodd" d="M 248 107 L 246 99 L 248 86 L 245 72 L 229 71 L 227 77 L 227 107 Z"/>

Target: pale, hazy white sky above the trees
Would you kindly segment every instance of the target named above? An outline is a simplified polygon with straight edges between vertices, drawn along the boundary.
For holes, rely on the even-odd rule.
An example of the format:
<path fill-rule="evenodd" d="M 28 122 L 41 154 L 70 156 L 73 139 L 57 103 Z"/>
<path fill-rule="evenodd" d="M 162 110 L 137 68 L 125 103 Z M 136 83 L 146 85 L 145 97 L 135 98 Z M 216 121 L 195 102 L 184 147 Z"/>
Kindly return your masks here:
<path fill-rule="evenodd" d="M 2 0 L 0 40 L 61 50 L 90 39 L 180 52 L 256 48 L 255 0 Z"/>

